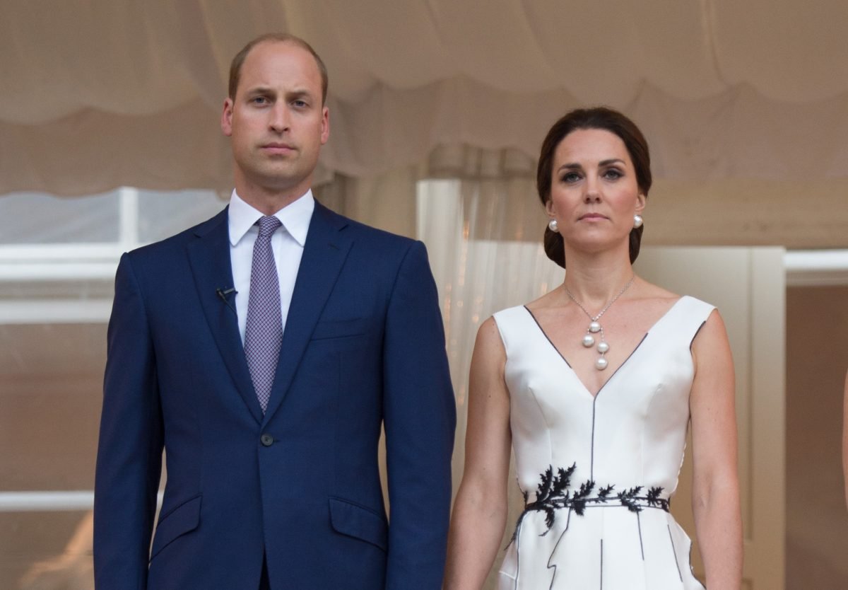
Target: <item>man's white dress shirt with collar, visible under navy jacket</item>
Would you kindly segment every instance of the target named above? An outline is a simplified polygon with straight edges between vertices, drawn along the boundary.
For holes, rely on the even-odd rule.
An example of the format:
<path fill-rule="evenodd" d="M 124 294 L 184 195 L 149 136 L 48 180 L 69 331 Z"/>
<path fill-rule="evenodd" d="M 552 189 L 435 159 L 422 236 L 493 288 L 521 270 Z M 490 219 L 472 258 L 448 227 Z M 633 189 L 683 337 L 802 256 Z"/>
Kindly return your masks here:
<path fill-rule="evenodd" d="M 315 198 L 312 191 L 306 191 L 304 196 L 290 205 L 277 211 L 274 216 L 282 222 L 271 236 L 271 250 L 274 250 L 276 275 L 280 280 L 280 311 L 282 312 L 282 329 L 286 329 L 288 308 L 292 304 L 294 281 L 298 277 L 300 258 L 304 255 L 306 233 L 310 228 L 312 211 L 315 211 Z M 254 225 L 261 211 L 245 203 L 232 191 L 230 209 L 228 211 L 230 226 L 230 261 L 232 263 L 233 287 L 236 288 L 236 313 L 238 317 L 238 333 L 244 344 L 244 329 L 248 323 L 248 298 L 250 297 L 250 269 L 254 261 L 254 243 L 259 236 L 259 226 Z"/>

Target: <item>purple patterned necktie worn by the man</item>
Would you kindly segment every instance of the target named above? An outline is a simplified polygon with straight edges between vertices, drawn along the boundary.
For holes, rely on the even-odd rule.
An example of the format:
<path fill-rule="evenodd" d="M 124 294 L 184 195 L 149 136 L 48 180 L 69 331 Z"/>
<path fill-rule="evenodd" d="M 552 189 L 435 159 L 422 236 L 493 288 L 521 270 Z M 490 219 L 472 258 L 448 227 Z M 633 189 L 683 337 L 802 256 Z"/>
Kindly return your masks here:
<path fill-rule="evenodd" d="M 244 354 L 248 358 L 250 378 L 262 413 L 268 408 L 274 383 L 276 360 L 282 344 L 280 281 L 276 276 L 271 236 L 282 223 L 274 216 L 256 222 L 259 237 L 254 244 L 254 262 L 250 268 L 248 322 L 244 329 Z"/>

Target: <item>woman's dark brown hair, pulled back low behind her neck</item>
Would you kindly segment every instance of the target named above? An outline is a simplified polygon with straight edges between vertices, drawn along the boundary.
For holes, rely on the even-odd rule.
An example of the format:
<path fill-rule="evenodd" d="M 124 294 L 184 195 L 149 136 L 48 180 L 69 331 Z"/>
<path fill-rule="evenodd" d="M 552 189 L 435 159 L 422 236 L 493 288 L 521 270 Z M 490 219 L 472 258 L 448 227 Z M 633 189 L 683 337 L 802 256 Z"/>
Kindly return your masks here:
<path fill-rule="evenodd" d="M 606 107 L 594 107 L 591 109 L 577 109 L 563 116 L 550 128 L 548 135 L 542 142 L 542 149 L 538 156 L 538 168 L 536 169 L 536 188 L 538 198 L 542 199 L 542 205 L 550 200 L 550 186 L 554 169 L 554 154 L 560 142 L 566 135 L 577 129 L 603 129 L 615 133 L 621 138 L 624 146 L 628 149 L 633 168 L 636 170 L 636 183 L 639 192 L 648 196 L 653 178 L 650 175 L 650 154 L 648 153 L 648 142 L 639 131 L 633 121 L 622 115 L 617 110 Z M 630 261 L 639 256 L 639 244 L 642 243 L 641 228 L 633 228 L 630 232 Z M 566 250 L 559 233 L 544 229 L 544 252 L 550 260 L 558 265 L 566 267 Z"/>

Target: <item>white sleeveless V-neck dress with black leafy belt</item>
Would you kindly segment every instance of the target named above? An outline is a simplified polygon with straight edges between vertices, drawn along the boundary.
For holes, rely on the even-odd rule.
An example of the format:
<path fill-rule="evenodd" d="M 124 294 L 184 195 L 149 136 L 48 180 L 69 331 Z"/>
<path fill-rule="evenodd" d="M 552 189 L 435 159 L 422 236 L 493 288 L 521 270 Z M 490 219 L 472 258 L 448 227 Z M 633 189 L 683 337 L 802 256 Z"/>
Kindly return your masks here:
<path fill-rule="evenodd" d="M 526 307 L 494 314 L 526 504 L 501 590 L 703 588 L 668 503 L 686 445 L 690 346 L 712 310 L 680 298 L 594 397 Z"/>

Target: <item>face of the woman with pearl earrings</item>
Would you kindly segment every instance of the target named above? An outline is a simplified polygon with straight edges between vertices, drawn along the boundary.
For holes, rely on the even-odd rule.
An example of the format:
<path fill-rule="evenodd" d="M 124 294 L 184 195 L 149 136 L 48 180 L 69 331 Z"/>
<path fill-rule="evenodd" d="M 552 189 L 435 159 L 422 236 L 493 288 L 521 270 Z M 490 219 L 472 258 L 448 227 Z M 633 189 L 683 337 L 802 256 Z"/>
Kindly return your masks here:
<path fill-rule="evenodd" d="M 628 149 L 605 129 L 577 129 L 554 152 L 550 199 L 566 246 L 599 251 L 628 243 L 633 215 L 644 209 Z"/>

